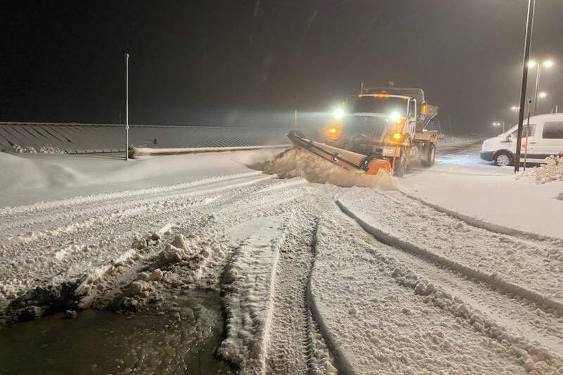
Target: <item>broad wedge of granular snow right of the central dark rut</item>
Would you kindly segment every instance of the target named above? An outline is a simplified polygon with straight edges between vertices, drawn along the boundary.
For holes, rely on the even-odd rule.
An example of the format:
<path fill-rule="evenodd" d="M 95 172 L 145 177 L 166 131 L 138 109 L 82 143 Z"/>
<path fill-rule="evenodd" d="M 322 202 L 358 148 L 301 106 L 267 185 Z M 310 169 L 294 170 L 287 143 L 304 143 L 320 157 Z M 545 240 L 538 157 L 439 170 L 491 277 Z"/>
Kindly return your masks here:
<path fill-rule="evenodd" d="M 339 370 L 551 374 L 562 366 L 561 357 L 491 322 L 387 249 L 341 212 L 322 221 L 312 288 L 336 359 L 352 364 Z"/>

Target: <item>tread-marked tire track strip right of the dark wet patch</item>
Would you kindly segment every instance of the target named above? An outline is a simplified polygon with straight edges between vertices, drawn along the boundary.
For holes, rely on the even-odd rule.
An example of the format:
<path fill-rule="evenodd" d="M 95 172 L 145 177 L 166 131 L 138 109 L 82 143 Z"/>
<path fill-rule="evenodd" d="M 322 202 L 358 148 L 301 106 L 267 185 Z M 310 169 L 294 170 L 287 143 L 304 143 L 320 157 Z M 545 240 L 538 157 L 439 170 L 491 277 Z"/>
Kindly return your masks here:
<path fill-rule="evenodd" d="M 320 374 L 329 361 L 308 297 L 317 219 L 295 207 L 232 229 L 244 240 L 224 276 L 227 338 L 217 353 L 243 374 Z"/>

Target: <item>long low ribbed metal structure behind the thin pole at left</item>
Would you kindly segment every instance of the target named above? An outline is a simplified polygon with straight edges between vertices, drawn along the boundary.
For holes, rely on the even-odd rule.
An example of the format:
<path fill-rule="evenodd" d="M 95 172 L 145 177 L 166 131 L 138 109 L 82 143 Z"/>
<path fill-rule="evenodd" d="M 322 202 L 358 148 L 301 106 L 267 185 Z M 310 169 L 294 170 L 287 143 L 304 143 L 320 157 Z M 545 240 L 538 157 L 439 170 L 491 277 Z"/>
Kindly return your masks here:
<path fill-rule="evenodd" d="M 286 144 L 289 128 L 129 125 L 129 144 L 151 148 L 246 147 Z M 125 152 L 125 125 L 0 122 L 0 149 L 50 146 L 66 153 Z"/>

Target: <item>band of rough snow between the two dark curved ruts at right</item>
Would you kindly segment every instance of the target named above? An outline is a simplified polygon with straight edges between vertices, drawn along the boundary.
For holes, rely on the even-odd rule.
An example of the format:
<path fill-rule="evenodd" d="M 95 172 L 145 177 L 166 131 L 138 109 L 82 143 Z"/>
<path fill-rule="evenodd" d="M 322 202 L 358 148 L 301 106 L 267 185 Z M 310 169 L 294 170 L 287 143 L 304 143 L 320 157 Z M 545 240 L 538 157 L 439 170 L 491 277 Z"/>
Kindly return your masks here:
<path fill-rule="evenodd" d="M 380 203 L 379 206 L 383 205 L 380 207 L 381 210 L 394 208 L 395 211 L 392 212 L 391 215 L 387 215 L 391 218 L 384 217 L 378 220 L 372 217 L 369 211 L 369 205 L 374 203 L 374 201 Z M 433 210 L 422 205 L 422 203 L 417 204 L 422 205 L 428 212 L 417 211 L 416 206 L 406 205 L 405 202 L 396 201 L 395 198 L 381 193 L 374 194 L 372 201 L 362 201 L 362 203 L 360 203 L 367 209 L 356 208 L 349 203 L 343 203 L 341 198 L 336 199 L 336 204 L 346 215 L 356 220 L 365 231 L 372 234 L 383 243 L 415 255 L 420 255 L 430 262 L 453 269 L 456 272 L 464 274 L 466 277 L 483 281 L 492 288 L 499 288 L 503 293 L 509 295 L 512 293 L 517 294 L 532 303 L 536 303 L 547 312 L 550 312 L 549 310 L 552 309 L 556 310 L 558 314 L 563 314 L 563 303 L 559 300 L 560 298 L 550 298 L 548 295 L 540 293 L 540 291 L 544 293 L 548 290 L 552 291 L 552 293 L 555 291 L 555 286 L 552 285 L 549 286 L 550 289 L 548 289 L 548 282 L 543 278 L 549 276 L 548 281 L 551 284 L 560 283 L 559 273 L 556 272 L 555 269 L 545 267 L 545 262 L 542 262 L 541 255 L 537 255 L 538 249 L 544 250 L 546 254 L 557 251 L 557 242 L 541 244 L 532 239 L 511 238 L 510 236 L 500 237 L 500 235 L 494 232 L 491 233 L 475 227 L 467 228 L 467 231 L 474 234 L 472 242 L 467 240 L 467 237 L 470 236 L 467 234 L 463 235 L 466 237 L 463 243 L 456 242 L 457 238 L 454 238 L 453 235 L 448 236 L 447 239 L 440 239 L 438 238 L 440 236 L 438 233 L 441 230 L 439 226 L 450 227 L 449 221 L 455 224 L 457 219 L 448 217 L 441 212 L 434 211 L 436 214 L 433 214 Z M 400 209 L 397 210 L 397 206 L 400 206 Z M 430 224 L 422 231 L 417 229 L 417 227 L 413 229 L 413 218 L 417 215 L 424 217 L 434 215 L 433 220 L 439 223 L 439 225 L 436 224 L 436 232 L 434 233 L 432 231 L 433 229 L 431 229 Z M 404 221 L 399 222 L 398 218 Z M 455 225 L 459 226 L 460 222 L 457 222 Z M 413 235 L 415 238 L 419 239 L 417 243 L 412 241 Z M 430 238 L 428 238 L 429 236 Z M 509 246 L 505 246 L 506 243 L 514 244 L 514 246 L 510 248 Z M 451 250 L 455 246 L 461 246 L 462 248 L 469 246 L 469 248 L 463 251 L 457 249 L 455 252 L 449 253 L 448 249 Z M 476 246 L 477 248 L 472 248 L 472 246 Z M 496 246 L 496 248 L 492 247 L 495 248 L 495 253 L 488 254 L 489 251 L 485 252 L 485 250 L 483 250 L 490 250 L 491 246 Z M 510 268 L 510 259 L 502 258 L 501 262 L 501 258 L 498 258 L 500 256 L 498 254 L 502 254 L 500 246 L 505 246 L 507 249 L 502 249 L 507 252 L 506 258 L 509 258 L 511 253 L 517 252 L 519 257 L 526 257 L 524 258 L 526 262 L 533 262 L 534 267 L 542 267 L 541 272 L 531 272 L 530 269 L 520 267 L 517 276 L 510 274 L 511 270 L 514 271 L 514 269 Z M 489 260 L 491 264 L 488 264 L 489 262 L 483 262 L 486 255 L 496 256 L 497 258 L 491 258 Z M 494 267 L 492 265 L 494 265 Z M 515 278 L 517 278 L 518 281 L 515 281 Z"/>

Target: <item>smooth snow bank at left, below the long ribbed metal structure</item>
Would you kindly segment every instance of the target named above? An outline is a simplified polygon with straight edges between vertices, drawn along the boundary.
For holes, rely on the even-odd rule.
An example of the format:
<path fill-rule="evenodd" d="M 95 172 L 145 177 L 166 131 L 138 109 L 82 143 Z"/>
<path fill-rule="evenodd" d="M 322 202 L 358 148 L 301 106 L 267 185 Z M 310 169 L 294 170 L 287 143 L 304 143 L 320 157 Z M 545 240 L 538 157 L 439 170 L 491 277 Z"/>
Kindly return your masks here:
<path fill-rule="evenodd" d="M 277 153 L 261 149 L 169 155 L 127 163 L 108 156 L 0 153 L 0 207 L 252 172 L 248 164 Z"/>

